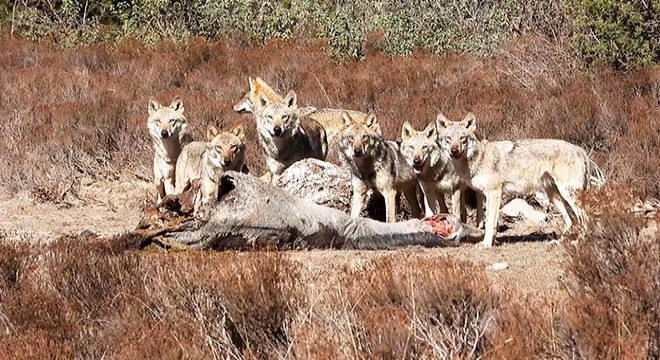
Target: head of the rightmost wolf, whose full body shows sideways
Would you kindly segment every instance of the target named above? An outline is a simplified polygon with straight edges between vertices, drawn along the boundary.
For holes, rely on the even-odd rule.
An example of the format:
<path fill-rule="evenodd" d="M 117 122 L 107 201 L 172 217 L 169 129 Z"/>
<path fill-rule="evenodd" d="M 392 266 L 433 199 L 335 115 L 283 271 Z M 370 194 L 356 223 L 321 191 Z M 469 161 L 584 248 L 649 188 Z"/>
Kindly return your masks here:
<path fill-rule="evenodd" d="M 440 131 L 440 146 L 452 159 L 471 158 L 479 143 L 474 131 L 477 129 L 476 118 L 468 113 L 461 121 L 451 121 L 442 113 L 438 114 L 435 124 Z"/>

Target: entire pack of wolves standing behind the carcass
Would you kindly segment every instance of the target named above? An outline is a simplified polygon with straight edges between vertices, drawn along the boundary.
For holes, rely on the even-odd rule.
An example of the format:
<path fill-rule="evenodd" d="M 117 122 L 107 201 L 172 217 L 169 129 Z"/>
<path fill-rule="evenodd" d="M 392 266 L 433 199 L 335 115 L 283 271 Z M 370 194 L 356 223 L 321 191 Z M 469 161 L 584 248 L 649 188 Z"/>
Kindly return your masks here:
<path fill-rule="evenodd" d="M 275 182 L 295 162 L 325 161 L 334 152 L 352 175 L 352 217 L 361 216 L 370 191 L 385 199 L 387 222 L 397 219 L 399 195 L 416 218 L 451 212 L 466 222 L 466 206 L 472 204 L 477 226 L 484 229 L 481 244 L 490 247 L 503 196 L 544 193 L 568 231 L 586 223 L 576 192 L 604 182 L 583 148 L 559 139 L 488 141 L 477 136 L 473 113 L 460 121 L 439 113 L 421 130 L 406 121 L 400 139 L 387 140 L 372 111 L 298 106 L 293 90 L 284 95 L 259 77 L 248 83 L 233 109 L 254 118 L 267 167 L 261 178 Z M 217 200 L 221 174 L 250 172 L 245 129 L 209 124 L 206 141 L 193 141 L 181 99 L 165 106 L 152 97 L 148 109 L 158 202 L 194 187 L 194 211 L 203 217 Z"/>

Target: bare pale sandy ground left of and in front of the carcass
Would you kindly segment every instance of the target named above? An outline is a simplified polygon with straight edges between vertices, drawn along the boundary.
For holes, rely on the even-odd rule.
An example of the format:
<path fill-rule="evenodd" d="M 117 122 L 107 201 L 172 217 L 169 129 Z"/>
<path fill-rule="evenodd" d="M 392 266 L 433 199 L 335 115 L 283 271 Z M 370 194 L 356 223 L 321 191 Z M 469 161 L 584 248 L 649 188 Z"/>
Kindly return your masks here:
<path fill-rule="evenodd" d="M 88 183 L 78 189 L 75 199 L 64 204 L 38 203 L 5 192 L 0 195 L 0 238 L 45 243 L 61 235 L 85 231 L 99 235 L 129 231 L 138 223 L 148 196 L 153 197 L 151 184 L 143 181 Z M 556 227 L 558 219 L 551 220 L 552 227 Z M 316 283 L 323 283 L 323 279 L 345 267 L 360 269 L 378 257 L 448 256 L 480 264 L 499 288 L 515 288 L 532 298 L 560 297 L 564 249 L 551 241 L 552 235 L 524 235 L 532 232 L 533 229 L 520 226 L 503 231 L 499 237 L 502 243 L 492 249 L 464 244 L 446 249 L 293 251 L 289 256 L 301 263 L 303 276 Z M 505 262 L 508 268 L 488 268 L 496 262 Z"/>

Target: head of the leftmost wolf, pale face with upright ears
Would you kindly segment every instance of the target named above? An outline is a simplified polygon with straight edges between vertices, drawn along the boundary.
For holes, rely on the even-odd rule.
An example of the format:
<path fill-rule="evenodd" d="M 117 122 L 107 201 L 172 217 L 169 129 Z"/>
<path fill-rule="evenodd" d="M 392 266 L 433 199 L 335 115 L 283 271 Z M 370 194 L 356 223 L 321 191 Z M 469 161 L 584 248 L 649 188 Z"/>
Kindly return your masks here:
<path fill-rule="evenodd" d="M 147 128 L 155 139 L 178 138 L 188 123 L 183 116 L 183 101 L 178 97 L 172 100 L 170 106 L 162 106 L 155 98 L 149 99 L 149 119 Z"/>

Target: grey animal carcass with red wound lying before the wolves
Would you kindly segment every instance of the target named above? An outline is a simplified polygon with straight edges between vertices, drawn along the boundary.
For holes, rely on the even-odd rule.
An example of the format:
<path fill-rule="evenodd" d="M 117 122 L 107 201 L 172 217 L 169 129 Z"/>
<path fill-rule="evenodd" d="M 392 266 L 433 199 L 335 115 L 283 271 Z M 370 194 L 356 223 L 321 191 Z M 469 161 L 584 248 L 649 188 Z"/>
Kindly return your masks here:
<path fill-rule="evenodd" d="M 167 203 L 164 201 L 164 203 Z M 171 222 L 171 221 L 170 221 Z M 449 214 L 383 223 L 300 199 L 252 175 L 228 171 L 203 219 L 136 230 L 147 243 L 192 249 L 386 250 L 476 242 L 483 231 Z"/>

